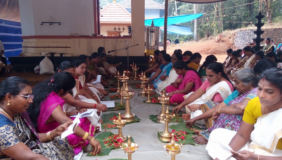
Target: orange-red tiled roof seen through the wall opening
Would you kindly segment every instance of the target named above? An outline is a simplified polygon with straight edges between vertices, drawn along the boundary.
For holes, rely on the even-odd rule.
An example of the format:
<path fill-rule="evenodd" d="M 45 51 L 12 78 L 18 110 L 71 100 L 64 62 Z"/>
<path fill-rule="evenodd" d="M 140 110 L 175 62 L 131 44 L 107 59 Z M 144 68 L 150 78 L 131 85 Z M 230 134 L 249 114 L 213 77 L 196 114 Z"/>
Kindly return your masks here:
<path fill-rule="evenodd" d="M 101 23 L 131 23 L 131 13 L 113 1 L 100 11 Z"/>

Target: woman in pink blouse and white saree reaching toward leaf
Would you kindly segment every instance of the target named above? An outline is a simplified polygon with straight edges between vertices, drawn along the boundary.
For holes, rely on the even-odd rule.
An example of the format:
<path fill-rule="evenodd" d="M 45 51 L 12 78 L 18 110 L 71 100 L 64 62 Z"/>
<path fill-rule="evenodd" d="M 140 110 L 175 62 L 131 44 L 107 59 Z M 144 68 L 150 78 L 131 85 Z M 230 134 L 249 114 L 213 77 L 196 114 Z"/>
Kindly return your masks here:
<path fill-rule="evenodd" d="M 234 91 L 234 87 L 228 76 L 224 73 L 221 63 L 213 62 L 207 67 L 206 73 L 207 81 L 204 81 L 197 91 L 185 95 L 185 101 L 172 110 L 173 112 L 176 110 L 176 113 L 178 113 L 182 107 L 186 106 L 186 112 L 188 114 L 183 114 L 184 120 L 201 115 L 203 113 L 201 104 L 209 101 L 219 104 Z M 194 107 L 192 104 L 197 105 Z M 204 120 L 197 121 L 197 123 L 204 125 Z"/>

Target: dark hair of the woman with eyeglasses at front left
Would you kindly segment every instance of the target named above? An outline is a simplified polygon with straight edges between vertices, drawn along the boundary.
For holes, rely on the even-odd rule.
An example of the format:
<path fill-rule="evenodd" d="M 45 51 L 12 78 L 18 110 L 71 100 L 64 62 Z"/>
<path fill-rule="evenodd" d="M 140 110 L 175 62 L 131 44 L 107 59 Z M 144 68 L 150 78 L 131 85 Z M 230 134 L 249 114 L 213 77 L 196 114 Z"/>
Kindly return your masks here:
<path fill-rule="evenodd" d="M 0 101 L 3 101 L 7 93 L 19 94 L 24 88 L 30 86 L 29 81 L 21 77 L 8 77 L 0 83 Z"/>

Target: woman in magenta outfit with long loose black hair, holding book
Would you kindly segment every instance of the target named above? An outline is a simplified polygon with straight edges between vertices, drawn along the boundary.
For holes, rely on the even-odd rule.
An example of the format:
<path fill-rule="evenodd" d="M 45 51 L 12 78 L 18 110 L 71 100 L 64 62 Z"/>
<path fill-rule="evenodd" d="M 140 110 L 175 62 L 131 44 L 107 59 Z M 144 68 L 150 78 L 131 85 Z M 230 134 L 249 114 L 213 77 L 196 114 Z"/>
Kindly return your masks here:
<path fill-rule="evenodd" d="M 43 81 L 33 88 L 34 99 L 28 109 L 31 121 L 39 133 L 49 132 L 60 124 L 72 121 L 62 110 L 65 101 L 61 98 L 75 86 L 75 79 L 68 72 L 53 75 L 49 81 Z M 87 118 L 80 119 L 74 134 L 68 135 L 69 144 L 75 155 L 89 142 L 93 152 L 98 154 L 100 143 L 93 137 L 95 127 Z"/>

